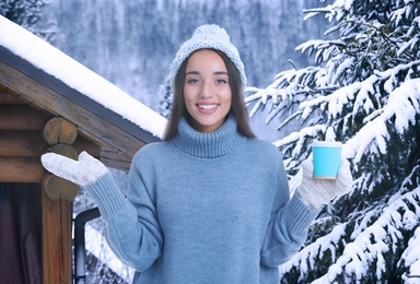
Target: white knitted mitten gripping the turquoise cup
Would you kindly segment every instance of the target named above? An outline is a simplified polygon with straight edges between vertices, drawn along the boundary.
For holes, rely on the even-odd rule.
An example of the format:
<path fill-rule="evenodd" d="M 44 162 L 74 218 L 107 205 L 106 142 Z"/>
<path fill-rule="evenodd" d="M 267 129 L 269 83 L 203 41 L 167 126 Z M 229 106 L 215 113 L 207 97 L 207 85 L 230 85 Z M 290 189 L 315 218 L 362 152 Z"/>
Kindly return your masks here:
<path fill-rule="evenodd" d="M 313 163 L 311 159 L 302 162 L 302 182 L 298 188 L 300 198 L 313 209 L 320 209 L 336 197 L 343 196 L 351 190 L 353 178 L 350 171 L 350 163 L 341 159 L 337 179 L 314 179 Z"/>

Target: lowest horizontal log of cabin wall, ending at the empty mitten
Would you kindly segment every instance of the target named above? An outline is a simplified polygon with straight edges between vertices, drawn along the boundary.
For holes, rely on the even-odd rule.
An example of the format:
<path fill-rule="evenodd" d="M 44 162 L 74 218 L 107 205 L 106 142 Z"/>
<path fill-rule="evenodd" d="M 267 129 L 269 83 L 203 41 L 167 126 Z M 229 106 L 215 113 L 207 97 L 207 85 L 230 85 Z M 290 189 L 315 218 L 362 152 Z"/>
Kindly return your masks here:
<path fill-rule="evenodd" d="M 0 157 L 0 182 L 40 182 L 45 171 L 39 157 Z"/>

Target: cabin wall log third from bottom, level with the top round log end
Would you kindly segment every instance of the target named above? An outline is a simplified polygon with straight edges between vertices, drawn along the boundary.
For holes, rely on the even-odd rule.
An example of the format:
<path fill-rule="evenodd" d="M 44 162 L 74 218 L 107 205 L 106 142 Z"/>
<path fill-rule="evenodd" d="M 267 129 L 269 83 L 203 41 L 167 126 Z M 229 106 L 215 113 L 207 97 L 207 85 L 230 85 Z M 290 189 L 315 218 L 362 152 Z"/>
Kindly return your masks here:
<path fill-rule="evenodd" d="M 40 131 L 49 118 L 27 105 L 0 105 L 0 130 Z"/>

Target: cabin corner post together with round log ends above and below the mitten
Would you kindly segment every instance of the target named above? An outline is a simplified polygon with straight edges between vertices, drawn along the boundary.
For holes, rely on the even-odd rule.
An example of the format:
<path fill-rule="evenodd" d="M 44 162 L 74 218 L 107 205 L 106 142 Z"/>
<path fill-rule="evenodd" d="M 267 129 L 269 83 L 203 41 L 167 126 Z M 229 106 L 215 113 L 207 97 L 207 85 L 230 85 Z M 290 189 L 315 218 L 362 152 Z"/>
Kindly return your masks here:
<path fill-rule="evenodd" d="M 62 119 L 50 119 L 43 129 L 47 151 L 77 158 L 71 146 L 77 139 L 77 127 Z M 46 173 L 42 180 L 43 196 L 43 283 L 71 283 L 71 213 L 79 186 Z"/>

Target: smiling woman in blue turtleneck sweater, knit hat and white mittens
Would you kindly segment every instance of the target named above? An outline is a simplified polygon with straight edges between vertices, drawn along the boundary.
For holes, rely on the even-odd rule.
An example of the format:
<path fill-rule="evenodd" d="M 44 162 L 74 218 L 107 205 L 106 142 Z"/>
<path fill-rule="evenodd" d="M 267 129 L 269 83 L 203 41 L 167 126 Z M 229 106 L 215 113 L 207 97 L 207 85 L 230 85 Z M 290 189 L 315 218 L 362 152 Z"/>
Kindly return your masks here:
<path fill-rule="evenodd" d="M 279 151 L 250 131 L 244 66 L 217 25 L 180 47 L 171 80 L 164 141 L 135 155 L 127 197 L 86 153 L 79 162 L 45 154 L 44 166 L 93 197 L 133 283 L 279 283 L 278 265 L 303 245 L 322 205 L 350 190 L 348 164 L 337 181 L 322 181 L 305 163 L 290 200 Z"/>

